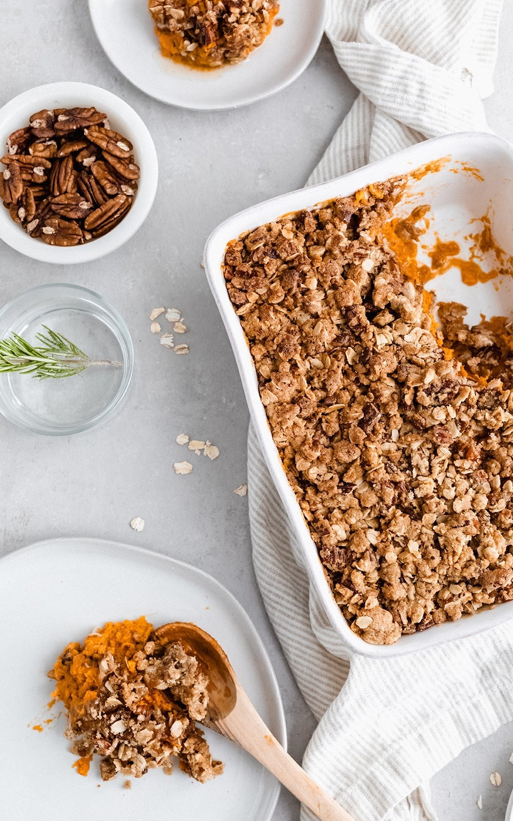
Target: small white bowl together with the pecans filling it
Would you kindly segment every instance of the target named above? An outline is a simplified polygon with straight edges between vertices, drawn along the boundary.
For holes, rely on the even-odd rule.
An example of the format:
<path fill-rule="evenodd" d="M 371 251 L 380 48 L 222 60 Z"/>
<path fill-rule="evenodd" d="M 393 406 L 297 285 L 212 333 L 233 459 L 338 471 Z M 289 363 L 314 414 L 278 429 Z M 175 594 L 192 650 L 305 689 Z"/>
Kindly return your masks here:
<path fill-rule="evenodd" d="M 0 238 L 41 262 L 89 262 L 140 228 L 155 146 L 124 100 L 86 83 L 25 91 L 0 109 Z"/>

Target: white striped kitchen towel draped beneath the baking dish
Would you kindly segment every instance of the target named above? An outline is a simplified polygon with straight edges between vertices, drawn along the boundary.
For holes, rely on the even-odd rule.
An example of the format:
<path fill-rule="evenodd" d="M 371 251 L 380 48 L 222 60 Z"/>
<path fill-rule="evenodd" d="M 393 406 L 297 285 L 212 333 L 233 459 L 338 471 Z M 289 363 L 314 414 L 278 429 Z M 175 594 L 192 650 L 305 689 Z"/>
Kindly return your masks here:
<path fill-rule="evenodd" d="M 488 130 L 481 99 L 492 91 L 501 5 L 330 0 L 327 36 L 360 95 L 309 184 L 426 137 Z M 436 821 L 429 778 L 513 719 L 511 626 L 390 661 L 350 656 L 309 588 L 252 428 L 248 484 L 263 600 L 319 720 L 305 769 L 357 821 Z"/>

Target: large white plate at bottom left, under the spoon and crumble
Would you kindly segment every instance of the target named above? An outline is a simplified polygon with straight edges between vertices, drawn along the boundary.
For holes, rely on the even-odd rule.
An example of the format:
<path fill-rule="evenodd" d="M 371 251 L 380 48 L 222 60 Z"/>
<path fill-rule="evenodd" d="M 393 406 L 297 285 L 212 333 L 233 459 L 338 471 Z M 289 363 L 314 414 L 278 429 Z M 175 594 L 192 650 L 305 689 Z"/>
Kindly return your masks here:
<path fill-rule="evenodd" d="M 244 750 L 206 731 L 224 773 L 199 784 L 174 768 L 150 770 L 123 789 L 102 782 L 98 761 L 88 777 L 62 736 L 61 716 L 46 706 L 46 672 L 71 640 L 105 621 L 145 615 L 153 624 L 195 621 L 218 639 L 271 731 L 286 741 L 277 681 L 254 626 L 212 576 L 158 553 L 101 539 L 52 539 L 0 560 L 0 818 L 9 821 L 268 821 L 279 786 Z M 43 732 L 34 732 L 36 725 Z M 96 758 L 96 757 L 95 757 Z M 101 788 L 98 789 L 98 785 Z"/>

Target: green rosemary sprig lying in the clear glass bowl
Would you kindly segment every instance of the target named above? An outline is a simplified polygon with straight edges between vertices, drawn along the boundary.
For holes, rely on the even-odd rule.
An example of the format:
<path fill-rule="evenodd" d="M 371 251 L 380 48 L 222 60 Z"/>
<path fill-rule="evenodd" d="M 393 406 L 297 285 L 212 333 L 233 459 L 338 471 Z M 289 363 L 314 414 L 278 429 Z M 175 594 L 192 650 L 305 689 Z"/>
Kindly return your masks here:
<path fill-rule="evenodd" d="M 0 340 L 0 374 L 32 374 L 38 379 L 62 379 L 81 374 L 90 365 L 112 365 L 122 367 L 122 362 L 112 360 L 92 360 L 80 351 L 62 333 L 52 331 L 43 325 L 46 334 L 36 333 L 41 344 L 31 345 L 17 333 Z"/>

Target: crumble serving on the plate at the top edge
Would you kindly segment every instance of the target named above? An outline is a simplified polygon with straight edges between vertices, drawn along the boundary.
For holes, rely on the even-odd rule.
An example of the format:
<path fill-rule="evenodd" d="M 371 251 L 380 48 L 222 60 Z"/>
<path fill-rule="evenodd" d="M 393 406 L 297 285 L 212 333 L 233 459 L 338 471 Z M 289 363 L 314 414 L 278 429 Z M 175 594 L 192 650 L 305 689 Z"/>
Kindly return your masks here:
<path fill-rule="evenodd" d="M 218 68 L 246 57 L 267 37 L 277 0 L 149 0 L 165 57 Z"/>

